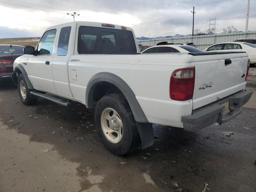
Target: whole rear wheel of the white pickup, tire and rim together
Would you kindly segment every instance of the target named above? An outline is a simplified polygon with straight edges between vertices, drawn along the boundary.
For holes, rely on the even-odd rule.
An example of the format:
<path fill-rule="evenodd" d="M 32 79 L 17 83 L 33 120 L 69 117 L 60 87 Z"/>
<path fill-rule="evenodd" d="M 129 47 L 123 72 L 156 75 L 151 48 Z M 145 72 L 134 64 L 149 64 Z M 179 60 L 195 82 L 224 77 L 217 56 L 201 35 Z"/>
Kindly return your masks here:
<path fill-rule="evenodd" d="M 131 153 L 140 144 L 134 116 L 121 94 L 109 94 L 98 101 L 95 125 L 102 143 L 114 154 Z"/>

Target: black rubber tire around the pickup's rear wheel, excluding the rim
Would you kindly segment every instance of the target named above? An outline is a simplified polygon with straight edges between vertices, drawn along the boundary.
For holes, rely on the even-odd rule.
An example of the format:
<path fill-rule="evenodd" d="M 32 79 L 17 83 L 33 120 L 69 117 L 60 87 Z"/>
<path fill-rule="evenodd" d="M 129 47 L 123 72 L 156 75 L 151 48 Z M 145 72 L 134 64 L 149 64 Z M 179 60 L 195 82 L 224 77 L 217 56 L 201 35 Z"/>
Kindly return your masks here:
<path fill-rule="evenodd" d="M 114 109 L 122 120 L 122 139 L 118 143 L 110 142 L 102 130 L 101 115 L 106 108 Z M 96 105 L 94 118 L 100 140 L 110 152 L 116 155 L 124 155 L 134 152 L 138 148 L 141 141 L 136 121 L 124 96 L 121 94 L 109 94 L 102 97 Z"/>

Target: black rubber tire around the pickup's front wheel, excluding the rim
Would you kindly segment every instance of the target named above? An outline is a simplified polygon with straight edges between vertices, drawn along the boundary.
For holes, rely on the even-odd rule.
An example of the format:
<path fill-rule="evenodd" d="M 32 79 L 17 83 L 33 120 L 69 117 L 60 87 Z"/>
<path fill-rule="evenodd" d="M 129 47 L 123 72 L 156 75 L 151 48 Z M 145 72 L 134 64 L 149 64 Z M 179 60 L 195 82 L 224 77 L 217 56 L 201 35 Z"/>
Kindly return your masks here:
<path fill-rule="evenodd" d="M 24 82 L 25 88 L 26 88 L 26 96 L 25 98 L 22 97 L 21 90 L 20 90 L 20 82 Z M 28 89 L 28 85 L 26 83 L 26 80 L 23 76 L 23 74 L 20 74 L 18 77 L 18 92 L 20 96 L 20 100 L 24 105 L 34 105 L 37 102 L 37 98 L 35 96 L 32 96 L 30 94 L 30 90 Z"/>

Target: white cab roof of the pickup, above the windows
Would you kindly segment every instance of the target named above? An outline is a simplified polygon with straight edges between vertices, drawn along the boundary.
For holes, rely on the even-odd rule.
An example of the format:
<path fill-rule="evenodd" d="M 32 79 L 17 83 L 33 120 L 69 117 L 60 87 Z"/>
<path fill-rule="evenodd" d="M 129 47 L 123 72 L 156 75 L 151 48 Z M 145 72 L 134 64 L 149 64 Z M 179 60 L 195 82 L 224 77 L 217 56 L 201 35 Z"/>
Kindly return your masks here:
<path fill-rule="evenodd" d="M 89 22 L 89 21 L 74 21 L 74 22 L 63 23 L 63 24 L 51 26 L 51 27 L 47 28 L 46 31 L 50 30 L 50 29 L 54 29 L 54 28 L 61 28 L 62 26 L 67 26 L 67 24 L 73 25 L 74 23 L 78 24 L 78 26 L 103 27 L 103 28 L 112 28 L 112 29 L 133 31 L 132 28 L 126 27 L 126 26 L 102 23 L 102 22 Z"/>

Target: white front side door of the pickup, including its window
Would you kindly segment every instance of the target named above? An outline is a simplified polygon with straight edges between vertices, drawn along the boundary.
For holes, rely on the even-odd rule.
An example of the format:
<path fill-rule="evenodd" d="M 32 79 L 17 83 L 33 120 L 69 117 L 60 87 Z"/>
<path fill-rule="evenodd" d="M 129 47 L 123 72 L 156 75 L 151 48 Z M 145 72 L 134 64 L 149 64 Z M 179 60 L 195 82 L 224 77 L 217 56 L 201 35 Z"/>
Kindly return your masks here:
<path fill-rule="evenodd" d="M 54 45 L 56 29 L 44 33 L 36 48 L 37 55 L 28 60 L 30 80 L 35 88 L 56 93 L 52 75 L 52 59 L 54 56 Z"/>

